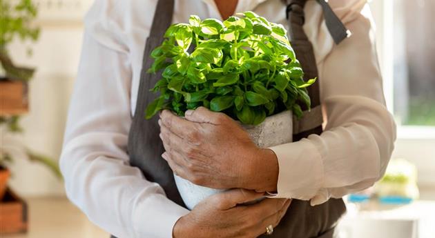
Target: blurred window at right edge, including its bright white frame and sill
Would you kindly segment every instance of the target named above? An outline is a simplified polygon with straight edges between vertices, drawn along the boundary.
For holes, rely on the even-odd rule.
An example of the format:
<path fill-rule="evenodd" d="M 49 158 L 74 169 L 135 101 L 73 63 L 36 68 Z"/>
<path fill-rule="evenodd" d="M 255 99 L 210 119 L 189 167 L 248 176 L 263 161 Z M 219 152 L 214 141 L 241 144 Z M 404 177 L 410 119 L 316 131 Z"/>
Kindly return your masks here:
<path fill-rule="evenodd" d="M 398 137 L 435 139 L 435 1 L 372 1 L 371 10 Z"/>

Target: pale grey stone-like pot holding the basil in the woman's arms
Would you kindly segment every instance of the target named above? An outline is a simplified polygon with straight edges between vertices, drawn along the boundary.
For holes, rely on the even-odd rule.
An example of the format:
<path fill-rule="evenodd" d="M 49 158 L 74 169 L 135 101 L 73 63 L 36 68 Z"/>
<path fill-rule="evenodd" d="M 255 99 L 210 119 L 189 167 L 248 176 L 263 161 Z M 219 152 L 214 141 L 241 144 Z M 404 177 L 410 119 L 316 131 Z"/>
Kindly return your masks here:
<path fill-rule="evenodd" d="M 267 117 L 258 126 L 242 125 L 242 127 L 247 130 L 251 139 L 260 148 L 278 146 L 289 143 L 293 139 L 293 114 L 289 110 L 280 112 Z M 224 191 L 198 186 L 177 175 L 174 175 L 174 178 L 184 204 L 190 210 L 206 197 Z"/>

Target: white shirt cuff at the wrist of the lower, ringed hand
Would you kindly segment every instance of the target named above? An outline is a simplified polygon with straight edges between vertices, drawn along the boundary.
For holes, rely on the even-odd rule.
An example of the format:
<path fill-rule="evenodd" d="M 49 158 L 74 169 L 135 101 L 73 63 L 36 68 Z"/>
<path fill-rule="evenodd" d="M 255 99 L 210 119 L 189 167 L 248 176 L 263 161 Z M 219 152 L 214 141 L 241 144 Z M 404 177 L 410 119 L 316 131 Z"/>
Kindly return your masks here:
<path fill-rule="evenodd" d="M 147 197 L 133 212 L 137 237 L 172 238 L 175 223 L 189 210 L 175 204 L 165 195 Z"/>

